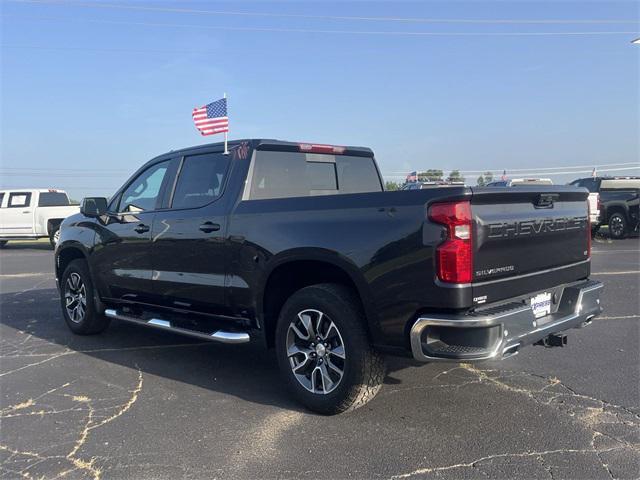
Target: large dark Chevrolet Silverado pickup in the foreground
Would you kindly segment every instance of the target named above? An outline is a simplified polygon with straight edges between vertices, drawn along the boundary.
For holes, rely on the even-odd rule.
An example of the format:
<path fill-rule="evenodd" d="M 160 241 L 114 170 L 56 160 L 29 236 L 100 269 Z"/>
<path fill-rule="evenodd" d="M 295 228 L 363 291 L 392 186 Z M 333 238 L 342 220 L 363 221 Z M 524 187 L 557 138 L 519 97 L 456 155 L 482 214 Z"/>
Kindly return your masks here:
<path fill-rule="evenodd" d="M 77 334 L 111 319 L 274 347 L 308 408 L 369 401 L 382 354 L 420 362 L 562 346 L 600 314 L 587 191 L 385 192 L 373 152 L 275 140 L 172 151 L 86 198 L 55 252 Z"/>

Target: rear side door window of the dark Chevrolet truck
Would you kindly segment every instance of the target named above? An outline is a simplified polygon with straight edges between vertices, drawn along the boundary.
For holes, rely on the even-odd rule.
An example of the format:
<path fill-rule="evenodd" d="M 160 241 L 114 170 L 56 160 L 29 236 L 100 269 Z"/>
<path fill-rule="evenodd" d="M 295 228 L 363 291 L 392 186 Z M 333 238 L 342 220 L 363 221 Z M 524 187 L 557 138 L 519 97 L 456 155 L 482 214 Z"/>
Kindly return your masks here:
<path fill-rule="evenodd" d="M 205 153 L 185 157 L 171 208 L 198 208 L 222 194 L 229 155 Z"/>

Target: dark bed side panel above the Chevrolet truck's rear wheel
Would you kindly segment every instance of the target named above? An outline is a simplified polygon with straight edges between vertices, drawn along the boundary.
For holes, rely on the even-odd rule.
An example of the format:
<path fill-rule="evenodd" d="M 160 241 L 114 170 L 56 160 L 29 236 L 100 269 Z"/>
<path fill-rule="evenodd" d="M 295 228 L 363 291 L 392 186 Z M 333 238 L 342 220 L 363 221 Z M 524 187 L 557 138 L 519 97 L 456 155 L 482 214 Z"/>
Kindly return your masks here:
<path fill-rule="evenodd" d="M 269 273 L 296 259 L 317 259 L 346 271 L 365 305 L 374 341 L 403 346 L 418 310 L 451 305 L 452 289 L 434 283 L 434 247 L 441 228 L 425 223 L 426 204 L 464 196 L 464 188 L 376 192 L 238 204 L 229 221 L 231 302 L 261 311 Z"/>

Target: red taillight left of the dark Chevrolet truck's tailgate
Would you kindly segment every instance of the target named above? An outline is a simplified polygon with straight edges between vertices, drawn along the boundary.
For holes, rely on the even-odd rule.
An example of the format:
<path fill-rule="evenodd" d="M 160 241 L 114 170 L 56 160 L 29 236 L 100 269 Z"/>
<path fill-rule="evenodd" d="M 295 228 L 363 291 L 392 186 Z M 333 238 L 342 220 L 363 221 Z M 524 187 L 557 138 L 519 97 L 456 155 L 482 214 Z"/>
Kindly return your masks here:
<path fill-rule="evenodd" d="M 447 227 L 447 239 L 436 248 L 438 278 L 447 283 L 470 283 L 473 278 L 470 203 L 436 203 L 429 207 L 429 219 Z"/>

